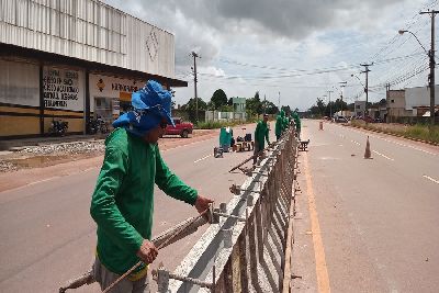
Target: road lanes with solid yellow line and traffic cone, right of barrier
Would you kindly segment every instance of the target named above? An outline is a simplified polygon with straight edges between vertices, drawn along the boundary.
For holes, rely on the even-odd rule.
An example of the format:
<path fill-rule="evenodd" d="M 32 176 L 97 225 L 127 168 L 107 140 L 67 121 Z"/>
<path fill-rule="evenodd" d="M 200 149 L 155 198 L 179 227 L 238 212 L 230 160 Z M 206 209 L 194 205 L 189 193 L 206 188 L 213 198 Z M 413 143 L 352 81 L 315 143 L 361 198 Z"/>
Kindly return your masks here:
<path fill-rule="evenodd" d="M 438 292 L 439 148 L 303 125 L 311 144 L 300 157 L 294 290 Z"/>

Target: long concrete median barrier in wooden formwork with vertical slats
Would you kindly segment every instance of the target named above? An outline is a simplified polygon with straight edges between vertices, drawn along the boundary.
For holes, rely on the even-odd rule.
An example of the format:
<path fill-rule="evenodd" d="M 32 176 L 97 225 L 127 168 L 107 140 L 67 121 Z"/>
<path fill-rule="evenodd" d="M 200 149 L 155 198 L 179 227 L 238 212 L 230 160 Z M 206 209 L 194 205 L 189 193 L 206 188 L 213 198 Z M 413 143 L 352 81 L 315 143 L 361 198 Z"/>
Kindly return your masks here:
<path fill-rule="evenodd" d="M 159 292 L 279 292 L 283 286 L 297 140 L 292 131 L 259 160 L 175 272 L 156 272 Z M 216 219 L 216 221 L 215 221 Z"/>

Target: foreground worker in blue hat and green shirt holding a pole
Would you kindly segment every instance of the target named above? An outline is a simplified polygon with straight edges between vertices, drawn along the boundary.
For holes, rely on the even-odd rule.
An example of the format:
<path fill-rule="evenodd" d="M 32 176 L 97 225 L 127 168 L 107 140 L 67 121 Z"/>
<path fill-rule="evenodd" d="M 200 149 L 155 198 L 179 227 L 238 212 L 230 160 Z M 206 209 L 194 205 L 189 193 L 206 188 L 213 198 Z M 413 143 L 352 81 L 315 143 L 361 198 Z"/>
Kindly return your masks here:
<path fill-rule="evenodd" d="M 170 115 L 171 93 L 148 81 L 132 94 L 133 111 L 121 115 L 105 140 L 105 156 L 92 195 L 90 214 L 98 224 L 93 277 L 102 290 L 139 260 L 144 264 L 111 292 L 149 292 L 147 264 L 158 250 L 150 241 L 154 184 L 166 194 L 194 205 L 199 213 L 213 201 L 198 194 L 173 174 L 157 142 Z"/>

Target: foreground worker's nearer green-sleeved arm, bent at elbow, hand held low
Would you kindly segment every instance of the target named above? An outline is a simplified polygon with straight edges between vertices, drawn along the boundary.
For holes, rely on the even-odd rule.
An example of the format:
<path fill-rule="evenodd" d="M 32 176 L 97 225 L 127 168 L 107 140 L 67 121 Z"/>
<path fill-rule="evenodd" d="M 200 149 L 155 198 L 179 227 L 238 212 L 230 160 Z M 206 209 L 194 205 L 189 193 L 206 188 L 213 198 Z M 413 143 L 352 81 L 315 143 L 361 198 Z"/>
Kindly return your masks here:
<path fill-rule="evenodd" d="M 126 222 L 115 203 L 122 185 L 128 157 L 120 147 L 108 146 L 102 169 L 91 200 L 90 214 L 104 230 L 106 236 L 121 249 L 136 253 L 142 246 L 143 237 Z"/>

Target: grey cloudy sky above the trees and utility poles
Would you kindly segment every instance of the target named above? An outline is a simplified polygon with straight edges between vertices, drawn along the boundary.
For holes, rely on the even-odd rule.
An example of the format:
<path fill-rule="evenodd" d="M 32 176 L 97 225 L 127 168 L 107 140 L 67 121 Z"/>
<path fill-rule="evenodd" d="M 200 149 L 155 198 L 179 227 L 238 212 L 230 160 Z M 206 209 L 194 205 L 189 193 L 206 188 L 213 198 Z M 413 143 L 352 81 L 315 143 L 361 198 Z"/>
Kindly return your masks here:
<path fill-rule="evenodd" d="M 193 98 L 192 50 L 198 92 L 204 101 L 216 89 L 227 97 L 255 95 L 307 110 L 317 98 L 341 93 L 348 102 L 385 98 L 391 89 L 427 86 L 428 57 L 413 32 L 430 47 L 430 16 L 439 0 L 104 0 L 175 34 L 177 103 Z M 351 76 L 353 75 L 353 77 Z"/>

